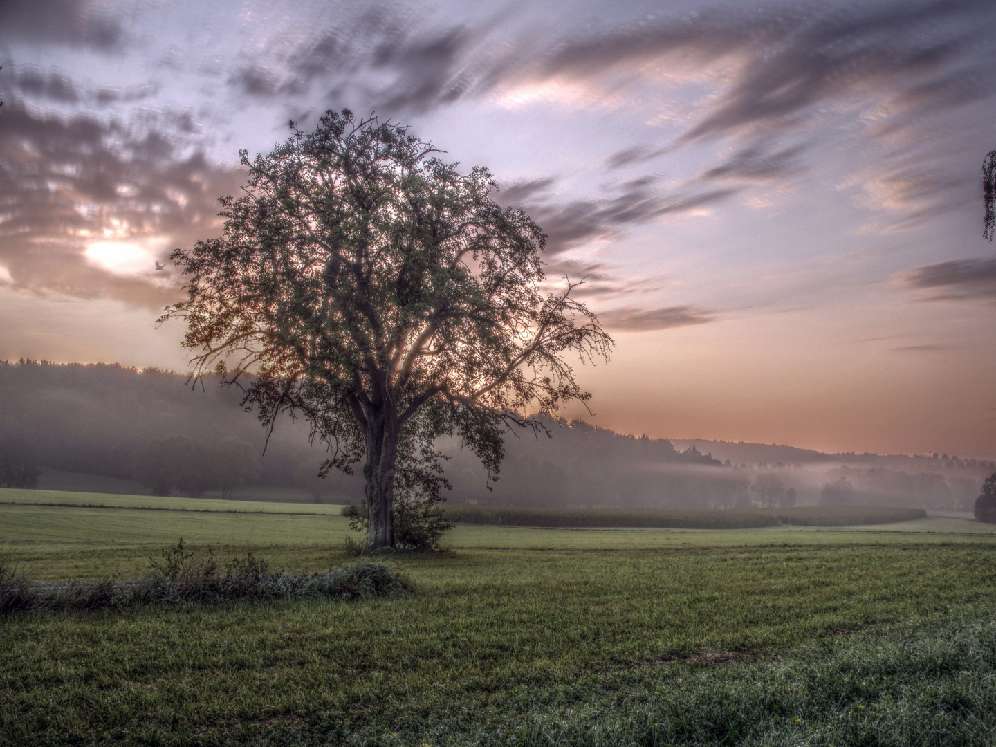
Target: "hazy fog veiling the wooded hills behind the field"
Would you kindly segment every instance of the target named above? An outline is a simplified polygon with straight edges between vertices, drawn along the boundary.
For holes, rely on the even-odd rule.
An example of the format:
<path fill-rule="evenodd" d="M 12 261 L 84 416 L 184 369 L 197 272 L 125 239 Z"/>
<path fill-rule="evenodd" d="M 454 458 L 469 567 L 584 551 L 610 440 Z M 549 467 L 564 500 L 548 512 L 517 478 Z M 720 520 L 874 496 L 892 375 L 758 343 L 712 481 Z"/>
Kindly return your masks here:
<path fill-rule="evenodd" d="M 167 478 L 163 490 L 215 495 L 220 488 L 210 481 L 198 483 L 196 475 L 187 482 L 169 478 L 185 469 L 196 471 L 187 462 L 228 444 L 241 445 L 238 458 L 258 460 L 233 483 L 234 497 L 362 500 L 359 474 L 333 472 L 318 478 L 326 452 L 309 443 L 307 423 L 279 420 L 266 444 L 264 428 L 239 399 L 237 388 L 219 388 L 212 380 L 191 385 L 178 373 L 120 366 L 0 365 L 4 436 L 35 451 L 47 470 L 41 487 L 154 490 L 133 478 L 141 477 L 140 462 L 149 449 L 167 449 L 172 443 L 173 452 L 153 456 Z M 542 421 L 549 437 L 542 431 L 509 432 L 499 479 L 491 485 L 480 462 L 458 440 L 440 441 L 452 486 L 445 491 L 448 501 L 543 508 L 795 504 L 969 511 L 982 479 L 996 468 L 991 462 L 947 454 L 824 454 L 774 444 L 651 439 L 583 421 Z M 187 440 L 177 440 L 180 435 Z M 184 443 L 194 450 L 183 452 Z M 95 482 L 93 476 L 118 482 Z M 270 490 L 261 493 L 264 488 Z"/>

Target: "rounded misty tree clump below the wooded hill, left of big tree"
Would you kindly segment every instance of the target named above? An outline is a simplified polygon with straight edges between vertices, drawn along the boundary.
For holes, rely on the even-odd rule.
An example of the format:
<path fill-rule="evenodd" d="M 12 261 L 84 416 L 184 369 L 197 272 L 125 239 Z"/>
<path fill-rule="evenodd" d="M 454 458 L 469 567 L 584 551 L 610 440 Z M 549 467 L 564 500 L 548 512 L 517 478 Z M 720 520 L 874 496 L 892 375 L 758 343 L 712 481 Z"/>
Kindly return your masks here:
<path fill-rule="evenodd" d="M 196 498 L 208 490 L 231 497 L 239 485 L 259 477 L 256 447 L 240 438 L 198 442 L 185 433 L 171 433 L 134 453 L 132 476 L 152 495 Z"/>

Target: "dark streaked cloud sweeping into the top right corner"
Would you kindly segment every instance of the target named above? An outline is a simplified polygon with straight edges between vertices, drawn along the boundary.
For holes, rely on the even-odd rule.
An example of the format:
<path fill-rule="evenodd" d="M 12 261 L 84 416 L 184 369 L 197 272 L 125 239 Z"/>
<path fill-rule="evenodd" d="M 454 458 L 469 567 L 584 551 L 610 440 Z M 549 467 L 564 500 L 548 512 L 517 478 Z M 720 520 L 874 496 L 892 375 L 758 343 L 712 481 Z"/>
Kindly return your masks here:
<path fill-rule="evenodd" d="M 992 95 L 994 26 L 996 7 L 975 0 L 724 6 L 567 41 L 529 74 L 638 77 L 665 58 L 699 70 L 727 59 L 730 83 L 682 134 L 688 141 L 770 132 L 842 94 L 897 91 L 896 103 L 918 111 Z M 645 154 L 621 151 L 615 162 Z"/>

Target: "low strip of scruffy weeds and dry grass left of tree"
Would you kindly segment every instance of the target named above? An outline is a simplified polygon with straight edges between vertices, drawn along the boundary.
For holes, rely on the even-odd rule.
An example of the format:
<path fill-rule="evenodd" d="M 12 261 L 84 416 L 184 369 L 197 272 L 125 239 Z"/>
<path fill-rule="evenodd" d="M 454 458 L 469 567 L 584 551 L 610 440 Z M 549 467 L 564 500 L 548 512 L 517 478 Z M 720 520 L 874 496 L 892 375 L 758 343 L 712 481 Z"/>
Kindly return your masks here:
<path fill-rule="evenodd" d="M 236 601 L 370 600 L 411 591 L 407 577 L 387 563 L 362 559 L 325 573 L 291 574 L 272 571 L 251 553 L 219 564 L 210 551 L 198 556 L 182 540 L 163 550 L 158 560 L 150 559 L 149 573 L 137 581 L 33 584 L 16 566 L 0 564 L 0 615 Z"/>

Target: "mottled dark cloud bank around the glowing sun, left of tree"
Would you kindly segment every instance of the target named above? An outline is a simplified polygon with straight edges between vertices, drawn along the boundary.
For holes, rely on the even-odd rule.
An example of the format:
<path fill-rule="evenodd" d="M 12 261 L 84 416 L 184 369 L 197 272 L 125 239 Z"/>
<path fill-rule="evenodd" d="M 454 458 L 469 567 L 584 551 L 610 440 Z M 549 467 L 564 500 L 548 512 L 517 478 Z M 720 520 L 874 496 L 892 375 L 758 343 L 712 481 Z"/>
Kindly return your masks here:
<path fill-rule="evenodd" d="M 216 198 L 241 172 L 156 127 L 62 118 L 16 101 L 3 121 L 0 265 L 15 287 L 151 308 L 176 300 L 153 260 L 218 233 Z M 136 272 L 142 257 L 148 271 Z"/>

